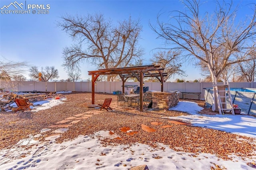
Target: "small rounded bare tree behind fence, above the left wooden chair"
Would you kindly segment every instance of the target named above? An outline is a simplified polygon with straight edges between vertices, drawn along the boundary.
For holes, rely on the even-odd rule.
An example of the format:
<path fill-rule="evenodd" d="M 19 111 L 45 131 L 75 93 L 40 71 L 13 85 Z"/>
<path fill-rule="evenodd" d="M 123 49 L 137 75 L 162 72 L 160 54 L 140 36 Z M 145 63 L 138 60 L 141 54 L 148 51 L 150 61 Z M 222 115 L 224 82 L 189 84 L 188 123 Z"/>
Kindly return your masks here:
<path fill-rule="evenodd" d="M 55 69 L 54 66 L 46 66 L 46 67 L 41 67 L 41 71 L 38 70 L 38 67 L 36 66 L 32 66 L 29 69 L 30 74 L 29 76 L 33 79 L 33 80 L 39 80 L 39 73 L 41 73 L 41 81 L 49 81 L 49 80 L 53 80 L 53 79 L 58 79 L 58 69 Z"/>

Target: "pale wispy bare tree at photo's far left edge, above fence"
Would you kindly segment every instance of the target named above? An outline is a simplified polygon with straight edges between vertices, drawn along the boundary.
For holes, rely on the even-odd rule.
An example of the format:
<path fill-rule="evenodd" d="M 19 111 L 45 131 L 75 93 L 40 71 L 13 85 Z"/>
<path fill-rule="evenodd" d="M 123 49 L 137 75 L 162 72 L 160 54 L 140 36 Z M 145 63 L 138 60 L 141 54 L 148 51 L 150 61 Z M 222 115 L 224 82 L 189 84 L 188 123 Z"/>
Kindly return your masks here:
<path fill-rule="evenodd" d="M 25 62 L 10 61 L 4 57 L 0 58 L 0 79 L 5 81 L 20 81 L 17 75 L 24 73 L 28 64 Z M 23 76 L 24 77 L 24 76 Z"/>

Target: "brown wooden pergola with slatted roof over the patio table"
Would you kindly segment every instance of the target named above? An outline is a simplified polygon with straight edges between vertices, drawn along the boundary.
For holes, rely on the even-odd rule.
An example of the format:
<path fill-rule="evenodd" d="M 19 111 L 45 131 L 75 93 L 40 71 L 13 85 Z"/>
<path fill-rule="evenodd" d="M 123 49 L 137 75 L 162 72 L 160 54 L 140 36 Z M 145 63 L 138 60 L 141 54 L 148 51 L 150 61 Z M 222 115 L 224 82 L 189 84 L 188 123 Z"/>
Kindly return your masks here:
<path fill-rule="evenodd" d="M 156 77 L 161 83 L 161 91 L 164 89 L 164 77 L 167 73 L 163 73 L 164 69 L 159 65 L 142 65 L 136 67 L 122 67 L 111 69 L 98 69 L 96 71 L 88 71 L 89 75 L 92 75 L 92 104 L 94 104 L 95 87 L 94 83 L 100 75 L 119 75 L 122 79 L 122 93 L 124 93 L 124 83 L 128 78 L 136 77 L 140 82 L 140 87 L 143 87 L 144 77 Z M 143 111 L 143 88 L 140 88 L 140 111 Z"/>

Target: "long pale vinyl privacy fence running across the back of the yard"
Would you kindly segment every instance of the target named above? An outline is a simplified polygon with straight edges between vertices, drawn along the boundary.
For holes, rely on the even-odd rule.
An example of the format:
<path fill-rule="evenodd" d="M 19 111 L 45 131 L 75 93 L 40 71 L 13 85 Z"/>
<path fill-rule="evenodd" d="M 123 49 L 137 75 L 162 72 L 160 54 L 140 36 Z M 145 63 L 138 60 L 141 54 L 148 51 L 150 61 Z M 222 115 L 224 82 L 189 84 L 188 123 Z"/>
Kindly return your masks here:
<path fill-rule="evenodd" d="M 222 83 L 219 83 L 222 84 Z M 231 88 L 256 88 L 256 82 L 230 82 Z M 137 85 L 139 82 L 126 82 L 125 85 Z M 134 90 L 136 90 L 136 87 Z M 149 91 L 161 91 L 161 85 L 159 82 L 145 82 L 145 87 L 149 87 Z M 164 91 L 180 91 L 180 92 L 200 92 L 200 99 L 204 99 L 205 88 L 212 88 L 212 83 L 164 83 Z M 58 91 L 81 91 L 91 92 L 92 82 L 38 82 L 38 81 L 12 81 L 6 83 L 0 81 L 0 89 L 4 91 L 20 91 L 20 92 L 58 92 Z M 131 88 L 126 88 L 125 91 L 130 91 Z M 114 91 L 122 91 L 122 82 L 109 82 L 98 81 L 95 85 L 95 92 L 112 93 Z M 180 97 L 182 94 L 180 93 Z M 188 99 L 198 99 L 195 94 L 186 94 Z"/>

